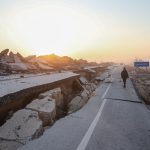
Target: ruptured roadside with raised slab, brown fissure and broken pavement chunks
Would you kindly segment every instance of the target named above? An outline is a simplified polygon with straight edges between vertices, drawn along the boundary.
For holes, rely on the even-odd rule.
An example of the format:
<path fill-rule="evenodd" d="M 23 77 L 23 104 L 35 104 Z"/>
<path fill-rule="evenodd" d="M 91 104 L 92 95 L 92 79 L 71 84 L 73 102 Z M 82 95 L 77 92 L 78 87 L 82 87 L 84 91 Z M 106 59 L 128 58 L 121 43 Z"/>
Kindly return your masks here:
<path fill-rule="evenodd" d="M 97 65 L 74 73 L 63 71 L 23 78 L 3 76 L 0 112 L 7 116 L 1 122 L 0 149 L 15 150 L 41 136 L 60 117 L 82 108 L 109 77 L 107 67 Z"/>

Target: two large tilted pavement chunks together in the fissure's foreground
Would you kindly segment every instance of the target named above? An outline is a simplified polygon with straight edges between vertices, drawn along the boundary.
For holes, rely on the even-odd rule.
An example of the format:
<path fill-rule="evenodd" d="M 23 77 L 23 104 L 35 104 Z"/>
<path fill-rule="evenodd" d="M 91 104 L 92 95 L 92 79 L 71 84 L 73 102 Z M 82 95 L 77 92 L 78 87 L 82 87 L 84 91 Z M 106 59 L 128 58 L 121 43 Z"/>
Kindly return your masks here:
<path fill-rule="evenodd" d="M 0 128 L 0 140 L 3 140 L 0 146 L 6 147 L 9 142 L 25 144 L 43 134 L 44 127 L 54 123 L 56 105 L 62 98 L 61 89 L 56 88 L 40 94 L 24 109 L 15 112 Z"/>

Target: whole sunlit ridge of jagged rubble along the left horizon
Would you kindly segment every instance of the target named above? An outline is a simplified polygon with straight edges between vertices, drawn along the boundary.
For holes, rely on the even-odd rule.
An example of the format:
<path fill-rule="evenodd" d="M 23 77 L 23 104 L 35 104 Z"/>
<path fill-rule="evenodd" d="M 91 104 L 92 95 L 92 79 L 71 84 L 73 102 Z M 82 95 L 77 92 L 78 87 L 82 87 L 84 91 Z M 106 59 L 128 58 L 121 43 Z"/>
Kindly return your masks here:
<path fill-rule="evenodd" d="M 83 59 L 72 59 L 68 56 L 57 56 L 55 54 L 44 56 L 23 57 L 20 53 L 14 54 L 9 49 L 0 52 L 0 75 L 4 73 L 37 73 L 47 71 L 78 70 L 85 66 L 98 65 Z M 92 69 L 89 72 L 95 73 Z"/>

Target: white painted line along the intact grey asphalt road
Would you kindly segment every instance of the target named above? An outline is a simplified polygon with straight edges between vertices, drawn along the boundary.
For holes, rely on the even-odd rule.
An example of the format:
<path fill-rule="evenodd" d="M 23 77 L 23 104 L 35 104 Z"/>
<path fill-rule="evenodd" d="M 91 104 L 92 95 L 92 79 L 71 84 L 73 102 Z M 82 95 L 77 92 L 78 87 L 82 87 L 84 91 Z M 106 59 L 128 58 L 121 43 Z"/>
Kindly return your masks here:
<path fill-rule="evenodd" d="M 105 93 L 102 95 L 102 99 L 105 98 L 105 96 L 106 96 L 110 86 L 111 86 L 111 84 L 107 87 Z M 86 149 L 86 147 L 88 145 L 88 142 L 89 142 L 89 140 L 90 140 L 90 138 L 92 136 L 92 133 L 93 133 L 93 131 L 94 131 L 94 129 L 95 129 L 95 127 L 96 127 L 100 117 L 101 117 L 101 114 L 102 114 L 102 111 L 103 111 L 103 108 L 104 108 L 104 105 L 105 105 L 106 101 L 107 101 L 107 99 L 103 100 L 96 117 L 94 118 L 93 122 L 91 123 L 90 127 L 88 128 L 88 130 L 87 130 L 86 134 L 84 135 L 81 143 L 77 147 L 77 150 L 85 150 Z"/>

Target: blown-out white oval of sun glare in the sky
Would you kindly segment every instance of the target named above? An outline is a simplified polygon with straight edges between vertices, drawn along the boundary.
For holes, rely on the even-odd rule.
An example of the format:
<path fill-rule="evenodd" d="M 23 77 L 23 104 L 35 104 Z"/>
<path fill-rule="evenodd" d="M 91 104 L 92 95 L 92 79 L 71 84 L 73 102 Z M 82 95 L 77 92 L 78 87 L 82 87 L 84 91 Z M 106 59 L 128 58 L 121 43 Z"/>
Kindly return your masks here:
<path fill-rule="evenodd" d="M 36 55 L 71 54 L 72 47 L 89 46 L 99 39 L 98 24 L 90 15 L 62 6 L 31 8 L 15 16 L 9 26 L 11 39 Z"/>

